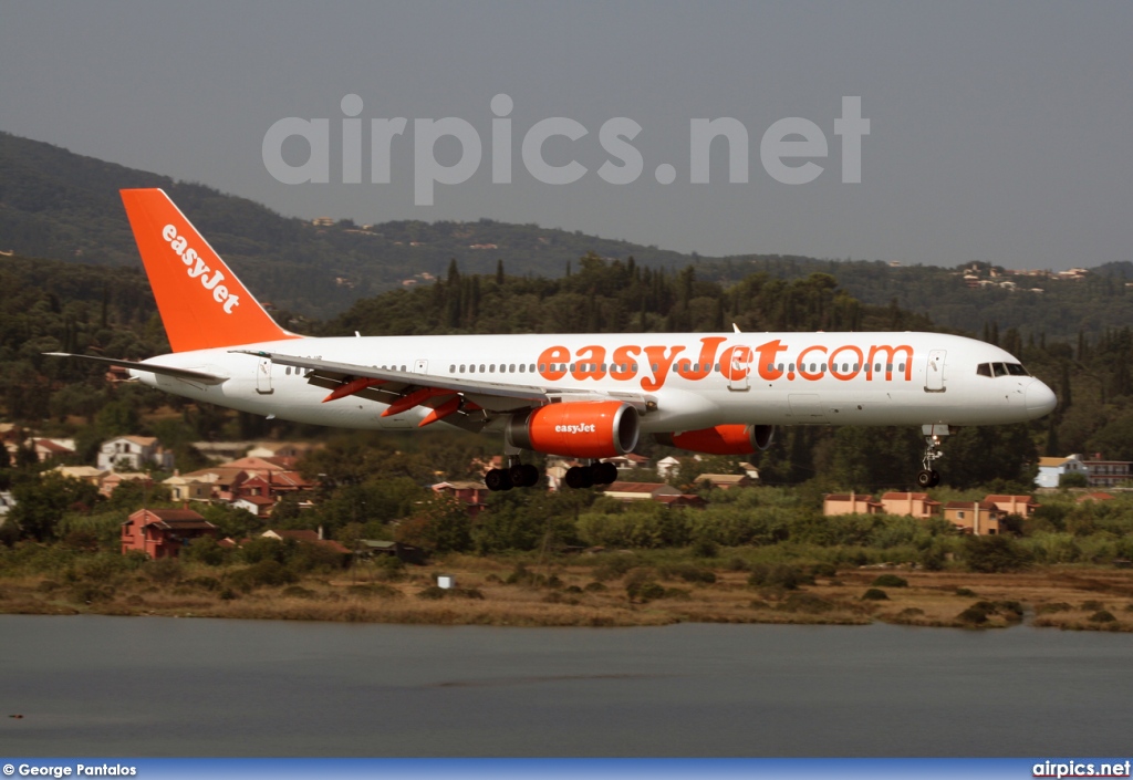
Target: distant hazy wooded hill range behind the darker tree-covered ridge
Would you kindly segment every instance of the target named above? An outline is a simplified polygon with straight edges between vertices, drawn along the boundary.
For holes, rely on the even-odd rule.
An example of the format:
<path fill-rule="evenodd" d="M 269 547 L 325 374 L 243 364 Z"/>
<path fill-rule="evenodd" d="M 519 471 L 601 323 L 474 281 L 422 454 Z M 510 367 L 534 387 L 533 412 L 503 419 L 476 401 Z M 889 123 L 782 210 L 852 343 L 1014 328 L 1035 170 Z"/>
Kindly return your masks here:
<path fill-rule="evenodd" d="M 698 279 L 723 285 L 752 273 L 785 281 L 825 273 L 863 304 L 887 307 L 895 303 L 943 328 L 974 332 L 986 328 L 989 334 L 994 329 L 1015 329 L 1037 339 L 1075 340 L 1081 332 L 1097 341 L 1107 331 L 1133 322 L 1133 294 L 1125 286 L 1126 277 L 1133 280 L 1128 262 L 1100 266 L 1079 281 L 1064 281 L 1049 275 L 1011 277 L 1004 269 L 973 263 L 970 257 L 956 257 L 954 268 L 917 265 L 915 257 L 903 258 L 900 266 L 763 254 L 710 258 L 492 220 L 382 222 L 382 215 L 374 214 L 370 226 L 333 220 L 316 226 L 202 185 L 174 183 L 3 133 L 0 252 L 138 266 L 118 196 L 123 187 L 164 188 L 259 298 L 280 310 L 324 320 L 391 289 L 428 287 L 434 277 L 446 273 L 452 261 L 467 274 L 491 274 L 502 262 L 510 275 L 540 278 L 533 282 L 537 287 L 550 283 L 543 279 L 577 271 L 578 258 L 594 254 L 623 263 L 632 257 L 637 268 L 670 273 L 691 265 Z M 752 249 L 758 249 L 759 236 L 750 239 Z M 1091 264 L 1088 257 L 1075 257 L 1073 263 Z M 994 283 L 969 287 L 963 274 L 972 268 L 983 281 Z M 1016 288 L 1000 286 L 1005 280 L 1014 280 Z"/>

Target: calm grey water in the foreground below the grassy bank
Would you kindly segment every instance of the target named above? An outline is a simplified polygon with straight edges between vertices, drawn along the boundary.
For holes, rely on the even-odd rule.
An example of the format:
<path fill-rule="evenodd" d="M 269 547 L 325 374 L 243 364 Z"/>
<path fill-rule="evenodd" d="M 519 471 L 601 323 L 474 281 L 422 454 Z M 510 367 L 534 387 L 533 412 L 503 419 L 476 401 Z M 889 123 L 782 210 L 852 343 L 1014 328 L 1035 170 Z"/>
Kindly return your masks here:
<path fill-rule="evenodd" d="M 1131 658 L 1028 627 L 0 616 L 0 753 L 1116 756 Z"/>

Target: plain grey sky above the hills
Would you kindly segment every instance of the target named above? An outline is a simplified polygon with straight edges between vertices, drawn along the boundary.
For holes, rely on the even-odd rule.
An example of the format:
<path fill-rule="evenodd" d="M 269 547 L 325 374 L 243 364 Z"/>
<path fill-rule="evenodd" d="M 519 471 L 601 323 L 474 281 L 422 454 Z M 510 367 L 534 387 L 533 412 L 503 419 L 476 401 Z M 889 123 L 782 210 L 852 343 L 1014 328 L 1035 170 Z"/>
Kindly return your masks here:
<path fill-rule="evenodd" d="M 307 219 L 1089 268 L 1133 260 L 1131 32 L 1124 1 L 5 0 L 0 130 Z"/>

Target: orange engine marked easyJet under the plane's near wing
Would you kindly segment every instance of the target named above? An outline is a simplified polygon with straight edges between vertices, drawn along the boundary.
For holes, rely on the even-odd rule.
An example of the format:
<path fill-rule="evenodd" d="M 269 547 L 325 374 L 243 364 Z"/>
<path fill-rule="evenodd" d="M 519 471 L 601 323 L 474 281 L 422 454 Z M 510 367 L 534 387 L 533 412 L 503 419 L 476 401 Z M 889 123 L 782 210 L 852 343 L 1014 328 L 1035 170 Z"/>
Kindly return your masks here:
<path fill-rule="evenodd" d="M 574 458 L 612 458 L 637 447 L 638 413 L 622 401 L 547 404 L 508 423 L 508 441 L 525 450 Z"/>

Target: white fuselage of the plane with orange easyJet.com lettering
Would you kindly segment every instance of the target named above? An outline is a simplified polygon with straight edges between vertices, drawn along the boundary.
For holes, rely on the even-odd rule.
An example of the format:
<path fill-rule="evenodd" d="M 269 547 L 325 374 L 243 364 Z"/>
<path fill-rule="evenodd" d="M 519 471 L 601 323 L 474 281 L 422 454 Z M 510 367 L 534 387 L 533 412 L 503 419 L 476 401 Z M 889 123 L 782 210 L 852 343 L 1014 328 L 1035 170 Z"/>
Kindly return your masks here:
<path fill-rule="evenodd" d="M 655 401 L 644 433 L 723 424 L 990 425 L 1050 412 L 1055 396 L 1023 373 L 983 375 L 1017 361 L 998 347 L 937 333 L 605 333 L 307 338 L 247 345 L 288 356 L 556 392 L 636 393 Z M 284 419 L 356 429 L 415 427 L 417 407 L 327 391 L 299 368 L 231 351 L 174 353 L 154 363 L 229 379 L 198 384 L 134 372 L 189 398 Z M 504 409 L 497 409 L 504 410 Z"/>

